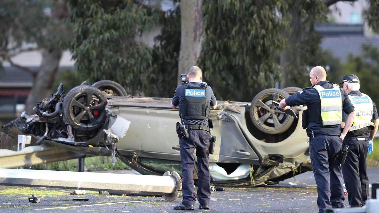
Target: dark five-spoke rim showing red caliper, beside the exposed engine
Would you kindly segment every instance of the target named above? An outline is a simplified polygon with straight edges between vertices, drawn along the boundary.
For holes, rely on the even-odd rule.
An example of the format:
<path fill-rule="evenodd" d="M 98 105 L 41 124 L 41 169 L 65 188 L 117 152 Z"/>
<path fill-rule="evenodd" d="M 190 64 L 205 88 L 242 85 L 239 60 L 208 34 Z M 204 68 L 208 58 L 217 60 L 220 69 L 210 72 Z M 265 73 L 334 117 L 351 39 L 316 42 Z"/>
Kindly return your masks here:
<path fill-rule="evenodd" d="M 70 116 L 77 125 L 93 127 L 102 122 L 105 116 L 105 103 L 94 92 L 82 92 L 72 100 Z"/>

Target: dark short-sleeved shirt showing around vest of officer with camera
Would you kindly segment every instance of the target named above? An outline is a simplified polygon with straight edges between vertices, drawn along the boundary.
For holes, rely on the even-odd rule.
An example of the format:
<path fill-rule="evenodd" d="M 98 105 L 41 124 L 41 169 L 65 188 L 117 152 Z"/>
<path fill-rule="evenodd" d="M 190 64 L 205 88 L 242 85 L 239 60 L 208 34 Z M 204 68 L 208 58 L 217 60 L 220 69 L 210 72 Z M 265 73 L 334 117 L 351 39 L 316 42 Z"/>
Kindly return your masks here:
<path fill-rule="evenodd" d="M 201 86 L 202 83 L 198 83 L 198 82 L 189 82 L 188 83 L 188 86 Z M 215 95 L 213 94 L 213 90 L 210 86 L 207 86 L 207 88 L 205 88 L 205 97 L 207 98 L 207 100 L 210 102 L 210 105 L 211 106 L 215 106 L 216 105 L 216 97 Z M 182 101 L 183 99 L 185 99 L 185 89 L 182 85 L 179 85 L 176 90 L 175 90 L 175 94 L 174 94 L 174 97 L 172 98 L 171 100 L 171 103 L 172 105 L 174 106 L 178 106 L 180 101 Z M 208 126 L 208 118 L 207 119 L 203 119 L 203 120 L 186 120 L 186 119 L 183 119 L 183 122 L 185 125 L 204 125 L 204 126 Z"/>

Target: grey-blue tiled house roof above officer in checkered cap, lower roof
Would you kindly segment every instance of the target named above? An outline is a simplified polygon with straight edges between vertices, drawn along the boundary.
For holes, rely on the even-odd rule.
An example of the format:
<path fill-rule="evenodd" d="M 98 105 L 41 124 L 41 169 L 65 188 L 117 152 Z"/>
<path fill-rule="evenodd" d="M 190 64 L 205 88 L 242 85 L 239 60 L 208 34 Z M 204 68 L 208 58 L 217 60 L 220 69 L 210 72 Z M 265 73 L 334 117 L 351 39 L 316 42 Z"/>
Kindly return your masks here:
<path fill-rule="evenodd" d="M 379 36 L 324 37 L 320 45 L 322 49 L 329 49 L 335 57 L 345 62 L 349 53 L 362 55 L 363 44 L 369 44 L 379 49 Z"/>

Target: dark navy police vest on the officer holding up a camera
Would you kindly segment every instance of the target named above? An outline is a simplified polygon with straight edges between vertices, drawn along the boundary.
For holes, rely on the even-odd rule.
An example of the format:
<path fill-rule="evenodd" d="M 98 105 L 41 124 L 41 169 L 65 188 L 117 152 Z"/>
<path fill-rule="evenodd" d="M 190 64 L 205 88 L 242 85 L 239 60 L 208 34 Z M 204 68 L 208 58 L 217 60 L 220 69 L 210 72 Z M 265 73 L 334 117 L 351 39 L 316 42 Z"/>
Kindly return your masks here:
<path fill-rule="evenodd" d="M 204 120 L 209 118 L 210 102 L 207 100 L 207 84 L 201 86 L 188 86 L 182 84 L 185 89 L 185 98 L 179 104 L 179 116 L 187 120 Z"/>

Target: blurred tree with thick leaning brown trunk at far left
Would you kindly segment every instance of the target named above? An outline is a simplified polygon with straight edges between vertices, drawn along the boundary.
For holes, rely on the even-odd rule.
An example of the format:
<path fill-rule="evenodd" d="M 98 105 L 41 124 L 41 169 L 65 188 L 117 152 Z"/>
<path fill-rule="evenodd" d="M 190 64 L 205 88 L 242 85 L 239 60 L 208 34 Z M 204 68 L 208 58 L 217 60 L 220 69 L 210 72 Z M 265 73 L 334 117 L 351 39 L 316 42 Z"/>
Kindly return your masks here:
<path fill-rule="evenodd" d="M 0 2 L 0 8 L 0 61 L 1 64 L 8 61 L 33 77 L 33 87 L 25 103 L 25 110 L 34 113 L 36 103 L 51 94 L 62 55 L 59 43 L 69 36 L 69 26 L 64 23 L 66 2 L 5 0 Z M 25 47 L 25 43 L 30 44 L 30 47 Z M 12 57 L 34 50 L 42 51 L 42 63 L 38 70 L 13 62 Z"/>

